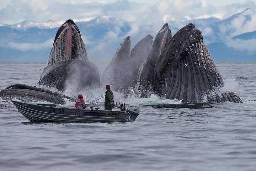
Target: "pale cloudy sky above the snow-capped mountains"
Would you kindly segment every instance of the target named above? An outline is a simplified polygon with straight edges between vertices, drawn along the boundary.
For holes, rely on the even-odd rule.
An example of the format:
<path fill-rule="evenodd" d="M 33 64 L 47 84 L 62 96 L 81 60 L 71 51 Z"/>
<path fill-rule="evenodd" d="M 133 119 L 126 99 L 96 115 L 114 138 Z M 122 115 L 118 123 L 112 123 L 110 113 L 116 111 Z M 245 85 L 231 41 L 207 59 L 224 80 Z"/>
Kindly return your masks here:
<path fill-rule="evenodd" d="M 129 22 L 141 18 L 165 22 L 211 16 L 226 18 L 248 7 L 256 10 L 256 0 L 0 0 L 0 23 L 49 19 L 63 22 L 66 18 L 77 22 L 97 16 L 119 17 Z"/>

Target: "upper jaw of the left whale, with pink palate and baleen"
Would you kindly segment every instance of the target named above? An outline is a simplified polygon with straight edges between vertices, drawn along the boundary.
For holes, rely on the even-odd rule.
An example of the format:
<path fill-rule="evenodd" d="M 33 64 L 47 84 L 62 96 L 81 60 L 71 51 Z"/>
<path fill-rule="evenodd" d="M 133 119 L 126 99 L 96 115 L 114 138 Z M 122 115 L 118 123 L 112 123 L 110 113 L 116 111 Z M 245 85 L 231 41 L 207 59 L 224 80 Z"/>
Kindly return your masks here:
<path fill-rule="evenodd" d="M 87 60 L 87 51 L 73 20 L 67 20 L 56 33 L 48 65 L 71 59 Z"/>

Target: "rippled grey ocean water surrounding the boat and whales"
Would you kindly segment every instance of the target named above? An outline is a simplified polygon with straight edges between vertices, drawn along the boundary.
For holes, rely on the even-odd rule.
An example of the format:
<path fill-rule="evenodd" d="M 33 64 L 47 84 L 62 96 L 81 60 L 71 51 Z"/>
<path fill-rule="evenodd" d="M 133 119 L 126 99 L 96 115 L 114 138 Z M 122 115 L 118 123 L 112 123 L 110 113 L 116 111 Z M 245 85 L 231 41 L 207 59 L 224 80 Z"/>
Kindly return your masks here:
<path fill-rule="evenodd" d="M 45 65 L 0 63 L 0 90 L 36 85 Z M 180 108 L 179 101 L 156 95 L 123 99 L 114 93 L 116 101 L 140 104 L 135 122 L 30 123 L 0 98 L 0 171 L 255 171 L 256 63 L 217 63 L 217 68 L 223 89 L 235 91 L 244 104 Z M 90 101 L 104 89 L 82 93 Z"/>

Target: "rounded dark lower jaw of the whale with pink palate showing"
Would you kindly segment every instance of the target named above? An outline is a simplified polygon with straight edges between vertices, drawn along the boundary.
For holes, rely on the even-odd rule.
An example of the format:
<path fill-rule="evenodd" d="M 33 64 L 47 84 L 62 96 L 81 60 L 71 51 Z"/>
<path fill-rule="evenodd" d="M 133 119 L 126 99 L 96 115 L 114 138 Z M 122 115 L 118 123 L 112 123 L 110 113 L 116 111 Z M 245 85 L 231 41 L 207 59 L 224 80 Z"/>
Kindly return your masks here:
<path fill-rule="evenodd" d="M 39 84 L 56 87 L 62 91 L 66 86 L 85 88 L 100 86 L 100 74 L 97 67 L 89 61 L 73 59 L 57 62 L 44 68 Z"/>

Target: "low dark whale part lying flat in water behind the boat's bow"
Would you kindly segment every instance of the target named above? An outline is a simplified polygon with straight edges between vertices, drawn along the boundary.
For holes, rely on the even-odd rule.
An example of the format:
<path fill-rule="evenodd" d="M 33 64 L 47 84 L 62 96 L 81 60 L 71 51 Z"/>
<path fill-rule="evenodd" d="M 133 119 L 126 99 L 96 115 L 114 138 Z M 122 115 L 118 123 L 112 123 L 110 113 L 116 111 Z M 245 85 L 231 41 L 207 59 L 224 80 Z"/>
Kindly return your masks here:
<path fill-rule="evenodd" d="M 70 101 L 75 101 L 74 98 L 62 95 L 57 92 L 23 84 L 14 84 L 6 87 L 5 90 L 0 91 L 0 96 L 3 100 L 11 100 L 13 98 L 17 98 L 23 101 L 46 101 L 62 105 L 65 103 L 64 98 L 69 99 Z"/>

